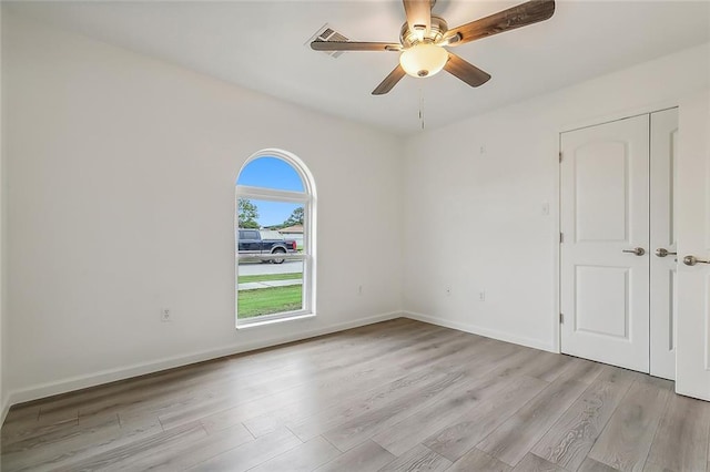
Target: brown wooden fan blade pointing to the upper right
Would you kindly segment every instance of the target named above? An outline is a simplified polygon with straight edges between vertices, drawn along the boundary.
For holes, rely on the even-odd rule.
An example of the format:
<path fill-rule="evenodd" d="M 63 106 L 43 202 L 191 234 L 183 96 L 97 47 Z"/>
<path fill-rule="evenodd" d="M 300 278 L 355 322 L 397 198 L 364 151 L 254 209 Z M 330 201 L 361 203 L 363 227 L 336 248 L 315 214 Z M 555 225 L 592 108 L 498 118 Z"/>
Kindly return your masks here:
<path fill-rule="evenodd" d="M 448 45 L 459 45 L 504 31 L 545 21 L 555 13 L 555 0 L 530 0 L 490 17 L 462 24 L 446 33 Z"/>

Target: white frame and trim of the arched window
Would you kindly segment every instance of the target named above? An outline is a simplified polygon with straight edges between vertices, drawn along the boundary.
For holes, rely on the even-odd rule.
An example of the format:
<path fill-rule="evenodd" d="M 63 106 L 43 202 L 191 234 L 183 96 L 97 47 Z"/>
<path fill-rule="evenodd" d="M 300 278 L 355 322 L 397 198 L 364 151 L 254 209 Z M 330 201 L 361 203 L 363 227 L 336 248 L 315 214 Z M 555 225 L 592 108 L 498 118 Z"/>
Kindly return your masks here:
<path fill-rule="evenodd" d="M 282 311 L 273 315 L 264 315 L 254 318 L 239 319 L 239 284 L 235 284 L 235 326 L 236 329 L 243 328 L 253 328 L 256 326 L 268 326 L 281 321 L 288 320 L 297 320 L 297 319 L 307 319 L 314 318 L 316 315 L 315 310 L 315 295 L 316 295 L 316 286 L 315 286 L 315 271 L 316 271 L 316 193 L 315 193 L 315 184 L 313 181 L 313 175 L 305 166 L 305 164 L 294 154 L 288 153 L 282 150 L 262 150 L 255 154 L 253 154 L 250 158 L 247 158 L 242 168 L 237 174 L 239 176 L 242 174 L 242 171 L 254 160 L 260 157 L 277 157 L 282 161 L 286 162 L 291 165 L 304 185 L 304 192 L 292 192 L 292 191 L 280 191 L 275 188 L 265 188 L 265 187 L 252 187 L 246 185 L 236 185 L 235 186 L 235 198 L 234 202 L 239 202 L 239 198 L 253 198 L 253 199 L 265 199 L 272 202 L 290 202 L 290 203 L 301 203 L 303 204 L 303 254 L 298 255 L 288 255 L 290 259 L 298 259 L 303 260 L 303 309 L 295 311 Z M 235 212 L 235 222 L 234 227 L 239 227 L 239 208 Z M 239 237 L 239 233 L 237 233 Z M 235 239 L 234 245 L 234 260 L 235 264 L 235 281 L 239 280 L 239 240 Z M 281 256 L 272 256 L 264 255 L 264 259 L 281 259 L 284 258 Z"/>

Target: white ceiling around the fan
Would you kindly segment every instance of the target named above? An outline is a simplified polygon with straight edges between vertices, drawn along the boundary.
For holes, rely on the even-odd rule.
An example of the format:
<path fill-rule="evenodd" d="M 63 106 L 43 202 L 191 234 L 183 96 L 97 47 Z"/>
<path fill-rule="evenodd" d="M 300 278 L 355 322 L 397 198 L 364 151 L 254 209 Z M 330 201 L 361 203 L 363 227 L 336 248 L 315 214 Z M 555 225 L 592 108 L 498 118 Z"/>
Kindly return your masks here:
<path fill-rule="evenodd" d="M 439 0 L 449 28 L 520 1 Z M 545 22 L 456 48 L 493 75 L 471 89 L 453 75 L 406 76 L 371 91 L 397 53 L 333 59 L 308 39 L 328 23 L 352 40 L 398 41 L 399 1 L 3 2 L 60 28 L 152 55 L 268 95 L 397 134 L 427 129 L 710 41 L 709 1 L 557 2 Z M 710 61 L 710 59 L 709 59 Z"/>

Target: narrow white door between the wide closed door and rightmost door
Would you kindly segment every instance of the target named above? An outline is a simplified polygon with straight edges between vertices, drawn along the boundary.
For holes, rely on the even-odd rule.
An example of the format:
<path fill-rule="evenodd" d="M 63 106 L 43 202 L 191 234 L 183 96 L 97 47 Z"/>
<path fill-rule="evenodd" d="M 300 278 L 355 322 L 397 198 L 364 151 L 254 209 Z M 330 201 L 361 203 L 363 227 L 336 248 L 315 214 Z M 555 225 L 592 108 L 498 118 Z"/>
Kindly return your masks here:
<path fill-rule="evenodd" d="M 650 152 L 650 373 L 676 378 L 678 109 L 651 113 Z"/>

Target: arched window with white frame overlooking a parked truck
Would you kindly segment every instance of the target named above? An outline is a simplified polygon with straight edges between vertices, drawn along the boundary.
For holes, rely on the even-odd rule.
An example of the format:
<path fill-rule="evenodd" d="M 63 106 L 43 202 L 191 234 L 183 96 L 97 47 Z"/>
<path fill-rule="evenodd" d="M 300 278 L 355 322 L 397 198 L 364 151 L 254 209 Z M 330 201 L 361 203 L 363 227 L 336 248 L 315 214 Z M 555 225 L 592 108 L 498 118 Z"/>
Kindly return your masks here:
<path fill-rule="evenodd" d="M 315 315 L 315 185 L 285 151 L 250 157 L 236 178 L 236 327 Z"/>

